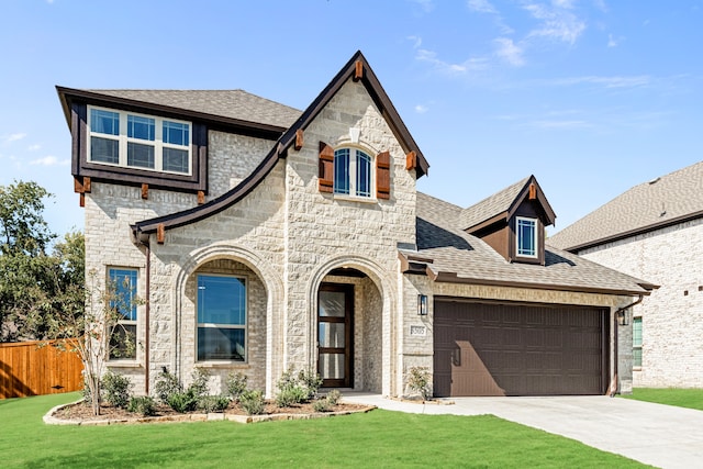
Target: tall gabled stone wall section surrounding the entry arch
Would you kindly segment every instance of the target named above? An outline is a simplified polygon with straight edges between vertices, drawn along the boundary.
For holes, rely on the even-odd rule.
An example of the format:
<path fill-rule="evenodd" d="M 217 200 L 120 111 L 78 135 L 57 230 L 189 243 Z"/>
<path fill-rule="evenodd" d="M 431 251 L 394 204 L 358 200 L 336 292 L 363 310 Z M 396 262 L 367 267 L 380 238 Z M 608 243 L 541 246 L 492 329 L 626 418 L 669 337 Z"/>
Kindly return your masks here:
<path fill-rule="evenodd" d="M 350 127 L 360 131 L 355 146 L 369 155 L 390 152 L 390 200 L 320 192 L 319 144 L 325 142 L 335 147 L 353 144 Z M 304 146 L 300 152 L 290 150 L 287 164 L 283 267 L 287 350 L 283 359 L 294 367 L 309 367 L 316 360 L 314 299 L 319 279 L 332 268 L 354 267 L 367 273 L 381 290 L 381 335 L 387 346 L 375 359 L 382 367 L 382 392 L 394 393 L 391 377 L 397 332 L 392 316 L 399 308 L 395 300 L 398 243 L 415 241 L 415 172 L 405 169 L 405 154 L 365 87 L 352 80 L 309 125 Z"/>

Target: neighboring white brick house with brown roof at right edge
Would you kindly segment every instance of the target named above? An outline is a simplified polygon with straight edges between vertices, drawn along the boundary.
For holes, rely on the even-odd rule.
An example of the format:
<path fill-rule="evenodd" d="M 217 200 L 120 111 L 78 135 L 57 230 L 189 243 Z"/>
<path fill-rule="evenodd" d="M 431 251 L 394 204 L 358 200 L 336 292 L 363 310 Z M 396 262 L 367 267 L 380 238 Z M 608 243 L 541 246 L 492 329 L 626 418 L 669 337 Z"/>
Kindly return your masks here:
<path fill-rule="evenodd" d="M 549 238 L 661 286 L 634 308 L 639 387 L 703 387 L 703 161 L 640 183 Z"/>

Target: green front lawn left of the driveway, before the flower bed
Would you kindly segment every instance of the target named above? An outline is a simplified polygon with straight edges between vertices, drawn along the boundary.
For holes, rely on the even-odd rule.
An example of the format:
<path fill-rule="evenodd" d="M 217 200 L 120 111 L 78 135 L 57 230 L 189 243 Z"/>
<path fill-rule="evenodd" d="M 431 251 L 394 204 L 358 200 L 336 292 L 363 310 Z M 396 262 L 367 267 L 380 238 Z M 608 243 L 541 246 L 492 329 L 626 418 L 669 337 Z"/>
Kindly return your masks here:
<path fill-rule="evenodd" d="M 312 421 L 45 425 L 77 393 L 0 401 L 10 467 L 643 467 L 538 429 L 482 416 L 376 410 Z"/>

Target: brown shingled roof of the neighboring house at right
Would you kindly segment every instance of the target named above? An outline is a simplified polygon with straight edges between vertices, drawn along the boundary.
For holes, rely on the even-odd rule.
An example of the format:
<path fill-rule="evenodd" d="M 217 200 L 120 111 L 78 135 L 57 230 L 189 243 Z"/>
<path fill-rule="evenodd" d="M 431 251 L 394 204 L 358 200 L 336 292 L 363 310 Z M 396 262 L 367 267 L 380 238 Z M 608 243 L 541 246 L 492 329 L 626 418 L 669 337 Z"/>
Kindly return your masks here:
<path fill-rule="evenodd" d="M 549 237 L 576 252 L 703 217 L 703 161 L 640 183 Z"/>

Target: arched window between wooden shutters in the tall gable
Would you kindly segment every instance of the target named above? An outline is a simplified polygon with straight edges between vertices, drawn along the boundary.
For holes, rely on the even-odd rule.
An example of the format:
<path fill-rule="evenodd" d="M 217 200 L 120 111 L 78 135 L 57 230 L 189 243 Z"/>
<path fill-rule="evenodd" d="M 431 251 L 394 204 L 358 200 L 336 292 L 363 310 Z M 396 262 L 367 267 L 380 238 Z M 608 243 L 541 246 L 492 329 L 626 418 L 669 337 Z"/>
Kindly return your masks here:
<path fill-rule="evenodd" d="M 366 152 L 344 147 L 334 152 L 334 193 L 370 199 L 373 193 L 373 158 Z"/>

